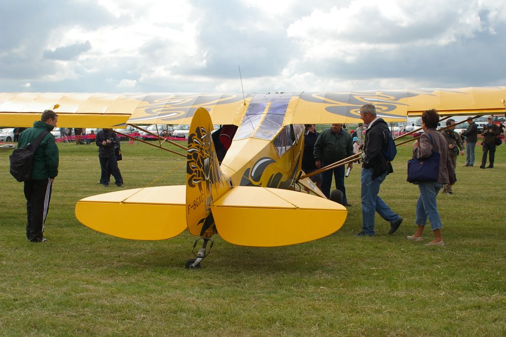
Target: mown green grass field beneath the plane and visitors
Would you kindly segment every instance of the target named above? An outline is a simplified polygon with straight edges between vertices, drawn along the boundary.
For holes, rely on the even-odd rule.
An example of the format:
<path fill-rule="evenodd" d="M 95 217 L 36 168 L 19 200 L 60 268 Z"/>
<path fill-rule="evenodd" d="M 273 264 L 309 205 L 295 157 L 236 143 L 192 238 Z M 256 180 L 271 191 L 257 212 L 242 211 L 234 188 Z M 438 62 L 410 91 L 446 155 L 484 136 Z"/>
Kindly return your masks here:
<path fill-rule="evenodd" d="M 459 157 L 455 195 L 438 196 L 445 247 L 423 245 L 430 228 L 421 243 L 405 239 L 414 233 L 418 190 L 406 182 L 410 146 L 400 146 L 380 193 L 404 217 L 394 235 L 376 217 L 376 237 L 356 237 L 356 167 L 346 178 L 353 207 L 340 231 L 278 248 L 217 236 L 200 270 L 184 269 L 194 241 L 187 232 L 142 242 L 82 226 L 76 201 L 118 188 L 97 184 L 96 146 L 58 146 L 43 244 L 26 240 L 23 185 L 0 154 L 0 335 L 506 335 L 504 145 L 494 169 L 462 167 Z M 125 188 L 184 183 L 184 158 L 144 144 L 122 152 Z M 476 154 L 479 161 L 481 146 Z"/>

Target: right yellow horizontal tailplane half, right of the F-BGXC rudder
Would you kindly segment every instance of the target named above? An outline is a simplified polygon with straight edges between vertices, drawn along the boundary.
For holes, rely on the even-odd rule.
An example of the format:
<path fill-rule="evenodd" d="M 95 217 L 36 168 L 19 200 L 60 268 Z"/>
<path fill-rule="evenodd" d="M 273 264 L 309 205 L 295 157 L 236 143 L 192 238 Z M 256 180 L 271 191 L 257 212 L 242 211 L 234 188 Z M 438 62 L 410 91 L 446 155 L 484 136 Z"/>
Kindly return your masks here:
<path fill-rule="evenodd" d="M 274 247 L 316 240 L 339 230 L 343 205 L 289 190 L 235 186 L 210 206 L 218 234 L 241 246 Z"/>

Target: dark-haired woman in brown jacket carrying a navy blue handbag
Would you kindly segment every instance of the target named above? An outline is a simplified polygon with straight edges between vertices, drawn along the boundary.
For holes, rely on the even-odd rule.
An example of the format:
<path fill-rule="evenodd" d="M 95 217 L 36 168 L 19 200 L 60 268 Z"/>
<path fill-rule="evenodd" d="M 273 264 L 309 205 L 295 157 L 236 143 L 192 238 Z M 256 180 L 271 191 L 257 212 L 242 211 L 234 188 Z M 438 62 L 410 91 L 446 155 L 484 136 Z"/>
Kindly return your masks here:
<path fill-rule="evenodd" d="M 421 115 L 421 126 L 424 129 L 424 133 L 420 136 L 419 141 L 416 140 L 413 143 L 413 163 L 410 163 L 411 165 L 408 166 L 408 181 L 418 184 L 420 196 L 416 201 L 416 233 L 407 236 L 407 239 L 412 241 L 423 240 L 422 234 L 427 224 L 427 219 L 429 219 L 434 232 L 434 240 L 427 244 L 429 246 L 444 246 L 441 237 L 441 227 L 443 225 L 436 204 L 436 196 L 443 187 L 443 184 L 454 183 L 456 181 L 455 170 L 448 153 L 446 139 L 436 131 L 438 123 L 439 115 L 434 109 L 427 110 Z M 436 161 L 434 161 L 434 158 L 436 158 Z M 433 177 L 430 174 L 418 172 L 419 179 L 417 179 L 410 172 L 411 169 L 415 169 L 416 167 L 422 167 L 422 171 L 429 171 L 430 166 L 434 166 L 432 169 L 436 169 L 437 172 Z"/>

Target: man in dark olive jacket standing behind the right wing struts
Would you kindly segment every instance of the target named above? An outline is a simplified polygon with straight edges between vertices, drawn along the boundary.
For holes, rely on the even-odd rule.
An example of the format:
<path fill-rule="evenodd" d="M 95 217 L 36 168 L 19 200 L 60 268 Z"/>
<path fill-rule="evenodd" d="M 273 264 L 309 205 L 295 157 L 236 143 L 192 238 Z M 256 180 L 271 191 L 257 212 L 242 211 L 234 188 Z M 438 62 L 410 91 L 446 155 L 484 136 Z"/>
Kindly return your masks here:
<path fill-rule="evenodd" d="M 332 124 L 331 128 L 323 130 L 316 139 L 313 154 L 317 168 L 353 156 L 351 134 L 343 130 L 343 124 Z M 353 167 L 353 164 L 350 163 L 348 167 Z M 327 198 L 330 198 L 332 173 L 335 179 L 335 188 L 343 192 L 343 204 L 345 206 L 351 206 L 346 198 L 344 165 L 322 173 L 321 192 L 323 192 Z"/>

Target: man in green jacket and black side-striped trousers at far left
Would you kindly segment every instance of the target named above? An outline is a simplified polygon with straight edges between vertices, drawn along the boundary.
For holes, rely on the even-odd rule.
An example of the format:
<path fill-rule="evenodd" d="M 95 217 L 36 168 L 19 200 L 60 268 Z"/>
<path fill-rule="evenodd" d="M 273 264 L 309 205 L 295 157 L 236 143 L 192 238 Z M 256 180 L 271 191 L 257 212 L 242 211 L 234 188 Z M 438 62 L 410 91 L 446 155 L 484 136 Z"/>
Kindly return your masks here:
<path fill-rule="evenodd" d="M 45 110 L 40 121 L 19 135 L 18 147 L 33 142 L 43 131 L 48 134 L 38 145 L 33 156 L 31 179 L 24 182 L 26 198 L 26 237 L 31 242 L 46 242 L 44 222 L 49 211 L 53 180 L 58 175 L 58 147 L 55 137 L 50 133 L 56 127 L 58 115 L 53 110 Z"/>

